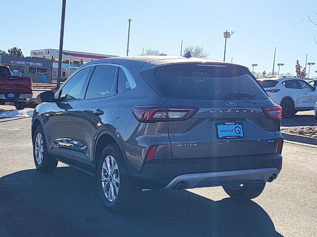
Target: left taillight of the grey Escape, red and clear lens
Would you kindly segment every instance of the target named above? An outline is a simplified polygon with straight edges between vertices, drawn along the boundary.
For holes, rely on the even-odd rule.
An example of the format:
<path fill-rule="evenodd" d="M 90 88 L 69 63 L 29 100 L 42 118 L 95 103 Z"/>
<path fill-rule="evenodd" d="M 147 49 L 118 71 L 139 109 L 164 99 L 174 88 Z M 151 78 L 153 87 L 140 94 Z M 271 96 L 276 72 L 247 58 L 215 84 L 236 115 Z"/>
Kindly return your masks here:
<path fill-rule="evenodd" d="M 133 106 L 136 120 L 143 123 L 182 121 L 191 118 L 198 108 L 187 106 Z"/>

